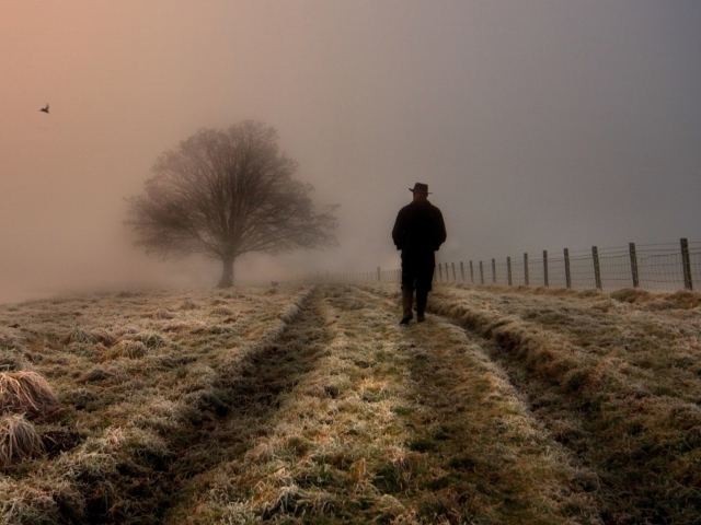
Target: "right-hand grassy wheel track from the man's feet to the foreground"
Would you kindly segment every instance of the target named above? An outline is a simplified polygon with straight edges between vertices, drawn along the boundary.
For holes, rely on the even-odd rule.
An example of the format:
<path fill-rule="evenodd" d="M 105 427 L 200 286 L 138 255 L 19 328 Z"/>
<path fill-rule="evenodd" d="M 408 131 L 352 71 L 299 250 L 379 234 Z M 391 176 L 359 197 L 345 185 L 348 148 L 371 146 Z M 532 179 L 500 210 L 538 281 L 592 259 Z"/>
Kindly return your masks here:
<path fill-rule="evenodd" d="M 361 293 L 383 303 L 397 323 L 395 300 L 368 289 Z M 462 522 L 455 523 L 601 523 L 590 494 L 598 487 L 596 474 L 560 446 L 532 413 L 526 393 L 492 359 L 492 341 L 433 314 L 426 323 L 398 329 L 421 398 L 409 423 L 414 431 L 410 446 L 433 451 L 432 463 L 441 472 L 430 481 L 438 489 L 435 504 L 451 502 L 452 512 L 464 510 L 459 504 L 464 493 L 455 493 L 456 480 L 462 479 L 462 490 L 467 487 L 483 503 L 492 499 L 487 509 L 501 502 L 499 511 L 473 514 L 468 505 Z M 466 465 L 472 475 L 467 485 L 460 468 Z M 526 508 L 536 511 L 521 513 Z"/>

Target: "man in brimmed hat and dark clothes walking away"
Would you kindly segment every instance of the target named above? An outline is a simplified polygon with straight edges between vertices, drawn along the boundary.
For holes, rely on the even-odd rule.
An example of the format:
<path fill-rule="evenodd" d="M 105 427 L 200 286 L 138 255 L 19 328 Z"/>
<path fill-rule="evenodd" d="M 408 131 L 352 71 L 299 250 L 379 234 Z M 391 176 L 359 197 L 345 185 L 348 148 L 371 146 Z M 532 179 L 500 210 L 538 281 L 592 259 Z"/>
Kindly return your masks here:
<path fill-rule="evenodd" d="M 425 320 L 426 300 L 434 280 L 436 252 L 446 241 L 446 225 L 443 213 L 428 202 L 428 186 L 416 183 L 410 188 L 414 200 L 399 210 L 392 240 L 397 249 L 402 250 L 402 308 L 401 325 L 414 317 L 412 306 L 416 290 L 416 322 Z"/>

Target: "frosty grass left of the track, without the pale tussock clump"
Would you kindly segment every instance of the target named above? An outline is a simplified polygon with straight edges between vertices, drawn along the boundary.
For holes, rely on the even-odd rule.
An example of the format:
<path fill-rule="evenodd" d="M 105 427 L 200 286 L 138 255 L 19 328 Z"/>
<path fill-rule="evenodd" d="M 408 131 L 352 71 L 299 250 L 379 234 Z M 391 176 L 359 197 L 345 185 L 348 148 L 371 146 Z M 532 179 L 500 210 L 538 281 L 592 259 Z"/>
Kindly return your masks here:
<path fill-rule="evenodd" d="M 3 469 L 0 520 L 161 523 L 182 479 L 203 468 L 196 445 L 230 409 L 226 385 L 309 293 L 124 293 L 0 308 L 0 364 L 45 376 L 64 407 L 36 415 L 37 433 L 78 438 Z"/>

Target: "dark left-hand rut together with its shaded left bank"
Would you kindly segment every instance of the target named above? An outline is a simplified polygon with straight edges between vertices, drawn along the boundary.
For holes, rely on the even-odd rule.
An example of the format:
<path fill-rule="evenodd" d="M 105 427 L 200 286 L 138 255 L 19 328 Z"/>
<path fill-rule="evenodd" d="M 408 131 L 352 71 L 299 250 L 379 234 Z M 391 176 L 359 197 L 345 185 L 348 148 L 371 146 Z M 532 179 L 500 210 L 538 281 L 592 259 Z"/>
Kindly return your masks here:
<path fill-rule="evenodd" d="M 116 468 L 107 474 L 96 470 L 94 479 L 83 476 L 84 509 L 76 512 L 59 501 L 61 518 L 50 523 L 171 524 L 196 515 L 192 500 L 207 490 L 211 472 L 254 446 L 280 397 L 313 369 L 327 340 L 318 304 L 318 290 L 303 291 L 274 323 L 267 323 L 272 328 L 262 330 L 258 343 L 226 358 L 226 351 L 217 354 L 218 364 L 212 362 L 207 380 L 186 392 L 176 421 L 159 433 L 160 441 L 152 446 L 133 443 L 131 435 L 138 433 L 108 429 L 104 441 L 114 442 L 110 445 L 114 458 L 104 452 L 94 457 L 104 457 Z M 208 348 L 227 348 L 226 335 L 214 330 Z M 120 447 L 129 448 L 128 454 Z M 212 522 L 204 516 L 202 523 Z"/>

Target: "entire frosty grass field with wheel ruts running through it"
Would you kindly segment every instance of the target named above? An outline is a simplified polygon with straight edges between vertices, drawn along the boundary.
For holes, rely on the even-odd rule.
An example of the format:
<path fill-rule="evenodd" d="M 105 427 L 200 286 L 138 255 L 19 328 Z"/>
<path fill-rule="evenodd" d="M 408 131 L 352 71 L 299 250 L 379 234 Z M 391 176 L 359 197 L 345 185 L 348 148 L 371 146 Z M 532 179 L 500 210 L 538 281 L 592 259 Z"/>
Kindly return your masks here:
<path fill-rule="evenodd" d="M 701 295 L 0 305 L 0 523 L 701 523 Z"/>

